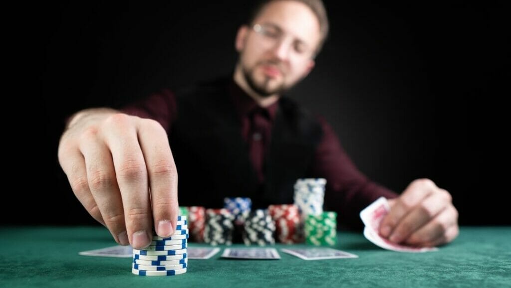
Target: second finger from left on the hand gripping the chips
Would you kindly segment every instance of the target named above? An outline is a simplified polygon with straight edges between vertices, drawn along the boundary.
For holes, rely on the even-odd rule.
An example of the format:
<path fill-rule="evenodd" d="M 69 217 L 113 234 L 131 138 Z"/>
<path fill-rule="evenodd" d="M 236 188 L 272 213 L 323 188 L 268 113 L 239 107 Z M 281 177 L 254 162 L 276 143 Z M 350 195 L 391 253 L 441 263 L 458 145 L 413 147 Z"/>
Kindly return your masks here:
<path fill-rule="evenodd" d="M 108 147 L 98 138 L 96 130 L 89 129 L 82 135 L 80 151 L 85 157 L 90 193 L 108 230 L 119 244 L 129 245 L 121 194 Z"/>

